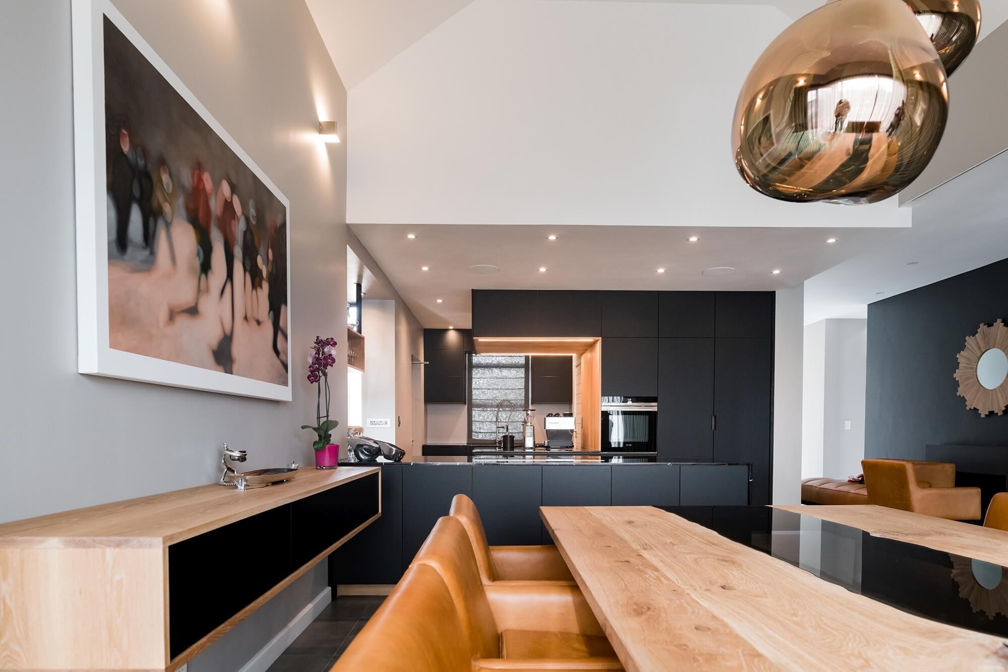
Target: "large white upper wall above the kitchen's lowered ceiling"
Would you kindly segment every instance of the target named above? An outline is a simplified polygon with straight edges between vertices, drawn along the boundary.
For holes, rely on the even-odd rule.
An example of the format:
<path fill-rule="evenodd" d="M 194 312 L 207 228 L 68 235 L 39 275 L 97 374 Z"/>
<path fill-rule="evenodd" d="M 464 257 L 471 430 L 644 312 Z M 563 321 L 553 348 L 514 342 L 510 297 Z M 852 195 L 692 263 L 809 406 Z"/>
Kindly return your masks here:
<path fill-rule="evenodd" d="M 758 195 L 729 129 L 768 5 L 476 0 L 350 95 L 354 223 L 895 226 Z M 390 198 L 394 195 L 394 198 Z"/>

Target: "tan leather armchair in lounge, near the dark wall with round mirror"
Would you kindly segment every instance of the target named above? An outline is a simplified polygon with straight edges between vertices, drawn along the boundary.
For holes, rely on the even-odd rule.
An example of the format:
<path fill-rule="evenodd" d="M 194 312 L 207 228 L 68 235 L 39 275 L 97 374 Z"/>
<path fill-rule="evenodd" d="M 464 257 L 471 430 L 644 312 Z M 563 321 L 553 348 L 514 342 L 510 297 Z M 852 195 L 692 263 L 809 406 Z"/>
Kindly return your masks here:
<path fill-rule="evenodd" d="M 954 521 L 980 520 L 980 488 L 956 487 L 951 462 L 861 460 L 868 503 Z"/>

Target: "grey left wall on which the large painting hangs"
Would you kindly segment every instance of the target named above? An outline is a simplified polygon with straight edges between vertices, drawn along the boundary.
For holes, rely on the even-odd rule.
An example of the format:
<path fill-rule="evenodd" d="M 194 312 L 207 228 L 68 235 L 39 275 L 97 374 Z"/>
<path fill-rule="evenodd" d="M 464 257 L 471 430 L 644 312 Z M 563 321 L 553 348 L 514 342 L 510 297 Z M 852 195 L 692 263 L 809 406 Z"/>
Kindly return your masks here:
<path fill-rule="evenodd" d="M 345 357 L 347 98 L 311 16 L 284 0 L 115 0 L 127 19 L 290 199 L 292 350 L 336 334 Z M 250 468 L 312 459 L 305 363 L 276 403 L 77 373 L 69 0 L 0 8 L 0 522 L 212 482 L 218 446 Z M 346 140 L 346 138 L 344 137 Z M 333 380 L 346 420 L 345 369 Z M 246 564 L 236 549 L 236 564 Z M 325 585 L 325 566 L 197 658 L 239 668 Z M 321 579 L 321 580 L 320 580 Z M 230 643 L 230 644 L 229 644 Z"/>

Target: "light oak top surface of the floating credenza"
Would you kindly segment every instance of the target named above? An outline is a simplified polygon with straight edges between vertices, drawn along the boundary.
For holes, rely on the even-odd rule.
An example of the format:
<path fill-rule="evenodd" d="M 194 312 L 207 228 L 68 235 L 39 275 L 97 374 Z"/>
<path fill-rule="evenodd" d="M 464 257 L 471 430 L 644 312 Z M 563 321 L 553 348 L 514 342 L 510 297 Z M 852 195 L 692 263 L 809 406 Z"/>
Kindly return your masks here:
<path fill-rule="evenodd" d="M 301 467 L 283 483 L 237 491 L 214 483 L 0 525 L 0 548 L 159 548 L 337 487 L 379 467 Z"/>

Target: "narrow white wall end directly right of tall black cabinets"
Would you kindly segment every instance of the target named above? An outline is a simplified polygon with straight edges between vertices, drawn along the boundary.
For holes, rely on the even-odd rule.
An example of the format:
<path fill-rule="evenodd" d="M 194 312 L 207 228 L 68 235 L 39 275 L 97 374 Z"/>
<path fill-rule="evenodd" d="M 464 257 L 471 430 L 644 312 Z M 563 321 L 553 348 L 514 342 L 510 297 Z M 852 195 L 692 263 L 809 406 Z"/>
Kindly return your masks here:
<path fill-rule="evenodd" d="M 801 500 L 804 286 L 777 292 L 773 352 L 773 503 Z"/>

